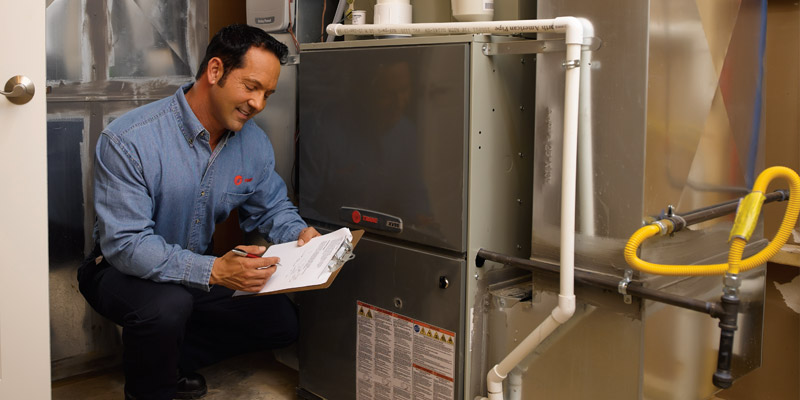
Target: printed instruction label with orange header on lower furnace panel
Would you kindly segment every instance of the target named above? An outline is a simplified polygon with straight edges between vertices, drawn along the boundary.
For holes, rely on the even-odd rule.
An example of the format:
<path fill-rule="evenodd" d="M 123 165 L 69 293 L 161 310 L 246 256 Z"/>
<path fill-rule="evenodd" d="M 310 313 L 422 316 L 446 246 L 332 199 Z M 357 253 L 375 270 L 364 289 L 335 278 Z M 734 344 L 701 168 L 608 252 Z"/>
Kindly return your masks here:
<path fill-rule="evenodd" d="M 356 399 L 455 397 L 456 335 L 356 302 Z"/>

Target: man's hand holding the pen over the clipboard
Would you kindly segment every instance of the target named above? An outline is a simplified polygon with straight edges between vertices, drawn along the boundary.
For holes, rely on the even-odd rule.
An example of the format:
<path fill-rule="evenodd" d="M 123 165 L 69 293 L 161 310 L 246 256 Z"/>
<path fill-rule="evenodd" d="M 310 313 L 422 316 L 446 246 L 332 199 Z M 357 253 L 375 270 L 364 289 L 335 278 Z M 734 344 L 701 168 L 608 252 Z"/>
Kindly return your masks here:
<path fill-rule="evenodd" d="M 236 246 L 251 254 L 263 254 L 264 246 Z M 233 290 L 258 292 L 278 268 L 278 257 L 248 258 L 227 252 L 214 260 L 209 285 L 222 285 Z M 263 269 L 261 269 L 263 268 Z"/>

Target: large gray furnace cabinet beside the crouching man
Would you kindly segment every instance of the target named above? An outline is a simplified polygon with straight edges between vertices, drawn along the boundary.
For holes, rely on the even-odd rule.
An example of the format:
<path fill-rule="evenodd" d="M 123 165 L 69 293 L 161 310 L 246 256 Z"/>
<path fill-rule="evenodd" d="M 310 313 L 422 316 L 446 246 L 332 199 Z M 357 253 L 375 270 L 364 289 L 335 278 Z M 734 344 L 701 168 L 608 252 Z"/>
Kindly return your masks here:
<path fill-rule="evenodd" d="M 533 182 L 534 60 L 485 56 L 490 40 L 303 47 L 300 214 L 366 234 L 330 288 L 296 296 L 302 396 L 460 399 L 483 385 L 493 278 L 475 253 L 530 254 Z"/>

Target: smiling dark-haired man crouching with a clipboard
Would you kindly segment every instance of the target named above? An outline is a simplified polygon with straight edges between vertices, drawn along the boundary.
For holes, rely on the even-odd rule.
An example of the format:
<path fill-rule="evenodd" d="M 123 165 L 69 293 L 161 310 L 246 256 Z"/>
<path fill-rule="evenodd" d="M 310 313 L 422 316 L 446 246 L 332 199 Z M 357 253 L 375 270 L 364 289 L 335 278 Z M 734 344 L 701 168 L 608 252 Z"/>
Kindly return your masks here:
<path fill-rule="evenodd" d="M 286 53 L 260 29 L 223 28 L 194 84 L 116 119 L 97 143 L 96 246 L 78 280 L 89 304 L 123 328 L 126 399 L 202 397 L 198 368 L 297 336 L 286 296 L 231 297 L 262 288 L 277 258 L 208 255 L 215 223 L 234 208 L 243 230 L 274 243 L 319 236 L 250 121 L 275 91 Z"/>

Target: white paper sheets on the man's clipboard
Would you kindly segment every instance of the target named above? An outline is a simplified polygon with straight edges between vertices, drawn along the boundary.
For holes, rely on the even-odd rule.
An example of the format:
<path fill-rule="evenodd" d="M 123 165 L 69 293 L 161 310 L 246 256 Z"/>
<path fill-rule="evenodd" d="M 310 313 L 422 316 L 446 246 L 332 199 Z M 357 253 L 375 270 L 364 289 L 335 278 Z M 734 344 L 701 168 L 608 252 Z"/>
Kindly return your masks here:
<path fill-rule="evenodd" d="M 262 257 L 278 257 L 280 265 L 259 293 L 327 282 L 333 272 L 328 265 L 346 240 L 352 241 L 353 235 L 349 229 L 342 228 L 327 235 L 317 236 L 303 246 L 298 246 L 296 241 L 270 246 Z M 253 293 L 237 290 L 234 296 L 245 294 Z"/>

